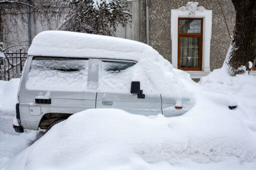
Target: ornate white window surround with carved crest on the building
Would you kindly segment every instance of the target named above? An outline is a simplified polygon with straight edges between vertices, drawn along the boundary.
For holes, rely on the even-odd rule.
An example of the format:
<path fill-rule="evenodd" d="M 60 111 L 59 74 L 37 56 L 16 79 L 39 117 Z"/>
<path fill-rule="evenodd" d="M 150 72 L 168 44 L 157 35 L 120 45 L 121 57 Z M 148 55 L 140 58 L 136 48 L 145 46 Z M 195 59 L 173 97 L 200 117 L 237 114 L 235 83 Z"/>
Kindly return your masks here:
<path fill-rule="evenodd" d="M 200 78 L 210 72 L 212 10 L 206 10 L 203 6 L 197 6 L 197 4 L 198 2 L 188 2 L 186 6 L 171 9 L 172 65 L 174 68 L 178 68 L 178 18 L 203 18 L 202 70 L 186 71 L 190 73 L 191 78 Z"/>

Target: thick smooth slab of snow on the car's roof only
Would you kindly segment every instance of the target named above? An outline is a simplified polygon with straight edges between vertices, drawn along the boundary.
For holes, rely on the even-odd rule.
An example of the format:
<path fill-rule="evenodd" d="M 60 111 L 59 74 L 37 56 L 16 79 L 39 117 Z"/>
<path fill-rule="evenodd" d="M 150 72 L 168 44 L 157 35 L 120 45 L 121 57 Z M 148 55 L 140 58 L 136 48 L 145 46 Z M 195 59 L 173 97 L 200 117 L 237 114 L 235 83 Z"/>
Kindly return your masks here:
<path fill-rule="evenodd" d="M 157 58 L 159 53 L 151 46 L 124 38 L 49 30 L 35 36 L 28 50 L 29 55 L 98 57 L 130 59 Z"/>

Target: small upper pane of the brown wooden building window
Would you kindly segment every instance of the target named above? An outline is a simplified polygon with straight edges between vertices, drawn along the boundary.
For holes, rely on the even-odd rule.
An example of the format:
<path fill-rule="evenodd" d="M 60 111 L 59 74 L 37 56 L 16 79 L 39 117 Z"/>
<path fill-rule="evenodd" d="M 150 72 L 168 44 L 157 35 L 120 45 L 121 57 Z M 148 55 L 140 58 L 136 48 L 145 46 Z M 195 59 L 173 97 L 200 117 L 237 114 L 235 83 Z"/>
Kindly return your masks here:
<path fill-rule="evenodd" d="M 201 20 L 180 19 L 180 33 L 201 33 Z"/>

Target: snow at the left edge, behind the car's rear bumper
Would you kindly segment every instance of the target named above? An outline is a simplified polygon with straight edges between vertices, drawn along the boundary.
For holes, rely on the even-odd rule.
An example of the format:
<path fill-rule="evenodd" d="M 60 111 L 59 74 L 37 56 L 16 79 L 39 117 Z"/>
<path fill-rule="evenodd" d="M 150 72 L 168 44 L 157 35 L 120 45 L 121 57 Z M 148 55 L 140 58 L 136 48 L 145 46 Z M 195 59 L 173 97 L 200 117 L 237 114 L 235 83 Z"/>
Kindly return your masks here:
<path fill-rule="evenodd" d="M 37 133 L 25 130 L 25 133 L 20 134 L 14 131 L 13 118 L 16 117 L 15 105 L 19 80 L 19 78 L 10 81 L 0 80 L 0 168 L 28 147 L 28 143 Z"/>

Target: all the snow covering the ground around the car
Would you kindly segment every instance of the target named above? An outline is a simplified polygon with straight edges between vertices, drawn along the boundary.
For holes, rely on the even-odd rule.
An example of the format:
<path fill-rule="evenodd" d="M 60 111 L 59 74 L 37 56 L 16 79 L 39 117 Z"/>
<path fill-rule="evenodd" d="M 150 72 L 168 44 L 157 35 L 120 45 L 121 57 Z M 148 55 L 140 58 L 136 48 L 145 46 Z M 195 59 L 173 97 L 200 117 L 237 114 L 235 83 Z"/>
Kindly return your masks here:
<path fill-rule="evenodd" d="M 38 131 L 12 128 L 19 79 L 0 81 L 0 169 L 255 169 L 256 77 L 173 71 L 195 100 L 184 115 L 89 109 L 34 143 Z"/>

